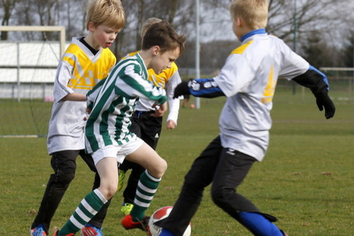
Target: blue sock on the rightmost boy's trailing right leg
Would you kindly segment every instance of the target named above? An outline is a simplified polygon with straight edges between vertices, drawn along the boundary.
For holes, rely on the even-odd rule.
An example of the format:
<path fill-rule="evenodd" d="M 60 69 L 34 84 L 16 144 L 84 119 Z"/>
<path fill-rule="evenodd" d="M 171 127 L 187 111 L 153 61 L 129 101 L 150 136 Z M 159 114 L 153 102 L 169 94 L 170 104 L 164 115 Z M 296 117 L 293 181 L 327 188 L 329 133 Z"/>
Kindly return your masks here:
<path fill-rule="evenodd" d="M 241 211 L 239 217 L 256 236 L 283 236 L 278 227 L 261 214 Z"/>

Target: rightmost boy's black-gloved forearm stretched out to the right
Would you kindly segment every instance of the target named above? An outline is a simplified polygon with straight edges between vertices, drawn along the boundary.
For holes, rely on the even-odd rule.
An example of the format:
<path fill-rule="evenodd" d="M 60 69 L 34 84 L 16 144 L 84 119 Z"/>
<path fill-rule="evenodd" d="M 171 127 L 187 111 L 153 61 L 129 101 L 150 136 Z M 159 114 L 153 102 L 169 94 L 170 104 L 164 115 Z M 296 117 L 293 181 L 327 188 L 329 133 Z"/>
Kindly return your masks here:
<path fill-rule="evenodd" d="M 325 74 L 318 69 L 310 66 L 307 72 L 293 78 L 298 84 L 309 88 L 316 97 L 316 103 L 319 111 L 324 109 L 324 116 L 327 119 L 332 118 L 336 112 L 333 101 L 329 98 L 329 82 Z"/>

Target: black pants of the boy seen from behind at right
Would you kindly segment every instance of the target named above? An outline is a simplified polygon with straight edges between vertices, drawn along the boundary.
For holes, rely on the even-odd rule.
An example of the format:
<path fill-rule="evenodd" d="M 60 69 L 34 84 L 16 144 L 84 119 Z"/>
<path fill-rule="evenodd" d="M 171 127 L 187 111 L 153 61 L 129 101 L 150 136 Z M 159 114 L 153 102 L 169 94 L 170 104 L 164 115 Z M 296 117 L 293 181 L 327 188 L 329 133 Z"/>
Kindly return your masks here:
<path fill-rule="evenodd" d="M 183 235 L 202 201 L 202 193 L 212 183 L 212 200 L 219 208 L 239 220 L 238 212 L 259 212 L 248 199 L 236 193 L 236 187 L 246 177 L 256 161 L 247 154 L 223 148 L 220 138 L 213 140 L 195 159 L 185 175 L 183 187 L 168 218 L 156 225 Z"/>

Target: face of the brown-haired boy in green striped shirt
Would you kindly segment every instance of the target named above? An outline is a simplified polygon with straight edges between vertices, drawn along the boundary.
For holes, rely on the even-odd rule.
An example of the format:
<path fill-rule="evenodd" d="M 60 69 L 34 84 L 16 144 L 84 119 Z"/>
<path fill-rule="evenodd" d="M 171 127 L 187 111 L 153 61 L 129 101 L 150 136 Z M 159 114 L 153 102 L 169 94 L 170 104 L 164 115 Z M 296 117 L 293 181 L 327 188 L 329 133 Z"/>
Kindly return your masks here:
<path fill-rule="evenodd" d="M 164 69 L 171 68 L 172 62 L 176 61 L 176 59 L 180 55 L 180 48 L 177 47 L 174 50 L 166 51 L 166 52 L 156 52 L 152 60 L 152 69 L 156 74 L 160 74 Z"/>

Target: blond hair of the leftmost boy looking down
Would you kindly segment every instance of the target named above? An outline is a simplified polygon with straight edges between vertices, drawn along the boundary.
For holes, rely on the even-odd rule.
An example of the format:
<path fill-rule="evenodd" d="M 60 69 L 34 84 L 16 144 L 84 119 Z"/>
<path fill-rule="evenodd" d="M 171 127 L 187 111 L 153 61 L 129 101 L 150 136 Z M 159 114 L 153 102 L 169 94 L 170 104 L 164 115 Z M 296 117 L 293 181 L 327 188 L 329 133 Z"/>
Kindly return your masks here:
<path fill-rule="evenodd" d="M 86 7 L 86 29 L 105 25 L 121 30 L 125 26 L 125 12 L 120 0 L 89 0 Z"/>

